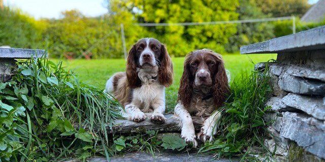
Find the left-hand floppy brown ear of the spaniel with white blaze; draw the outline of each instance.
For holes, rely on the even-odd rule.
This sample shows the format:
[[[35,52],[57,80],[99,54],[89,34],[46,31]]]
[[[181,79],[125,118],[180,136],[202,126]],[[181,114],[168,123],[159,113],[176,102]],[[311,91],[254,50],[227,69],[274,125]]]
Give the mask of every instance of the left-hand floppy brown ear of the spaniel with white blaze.
[[[136,88],[141,86],[141,81],[137,73],[137,60],[136,60],[136,46],[133,45],[132,49],[128,52],[126,60],[126,78],[127,86]]]

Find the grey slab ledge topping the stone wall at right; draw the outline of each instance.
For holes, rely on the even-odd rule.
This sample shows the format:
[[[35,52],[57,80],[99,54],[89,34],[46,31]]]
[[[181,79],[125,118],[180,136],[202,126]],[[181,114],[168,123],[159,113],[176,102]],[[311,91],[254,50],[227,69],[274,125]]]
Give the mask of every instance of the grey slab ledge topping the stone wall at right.
[[[281,36],[269,41],[242,46],[241,54],[283,53],[325,49],[325,26],[296,34]]]

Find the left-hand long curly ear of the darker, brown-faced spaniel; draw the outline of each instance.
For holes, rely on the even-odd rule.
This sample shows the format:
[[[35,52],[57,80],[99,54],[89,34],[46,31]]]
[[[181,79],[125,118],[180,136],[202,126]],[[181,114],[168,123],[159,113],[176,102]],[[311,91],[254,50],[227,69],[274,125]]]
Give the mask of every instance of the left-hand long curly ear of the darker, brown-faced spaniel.
[[[179,83],[179,90],[178,90],[178,101],[180,101],[185,107],[189,106],[192,99],[193,79],[189,70],[189,60],[190,60],[189,55],[186,57],[184,61],[184,71]]]

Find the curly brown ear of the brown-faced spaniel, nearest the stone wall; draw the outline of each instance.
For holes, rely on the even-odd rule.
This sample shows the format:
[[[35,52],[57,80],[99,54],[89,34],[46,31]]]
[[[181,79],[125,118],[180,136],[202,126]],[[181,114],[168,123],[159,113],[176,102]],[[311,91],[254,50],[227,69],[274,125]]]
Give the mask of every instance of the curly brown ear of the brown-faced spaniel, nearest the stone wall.
[[[219,55],[219,54],[217,54]],[[221,56],[218,58],[218,72],[214,76],[213,100],[217,107],[222,106],[226,96],[230,93],[228,77],[224,68],[224,63]]]

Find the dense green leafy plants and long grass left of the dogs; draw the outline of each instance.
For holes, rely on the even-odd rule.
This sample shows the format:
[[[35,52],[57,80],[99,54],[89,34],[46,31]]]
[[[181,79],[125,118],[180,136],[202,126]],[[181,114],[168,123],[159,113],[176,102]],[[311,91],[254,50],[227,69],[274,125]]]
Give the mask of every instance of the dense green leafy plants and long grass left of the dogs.
[[[119,117],[117,105],[61,63],[44,58],[19,62],[11,81],[0,83],[1,161],[108,157],[107,129]]]

